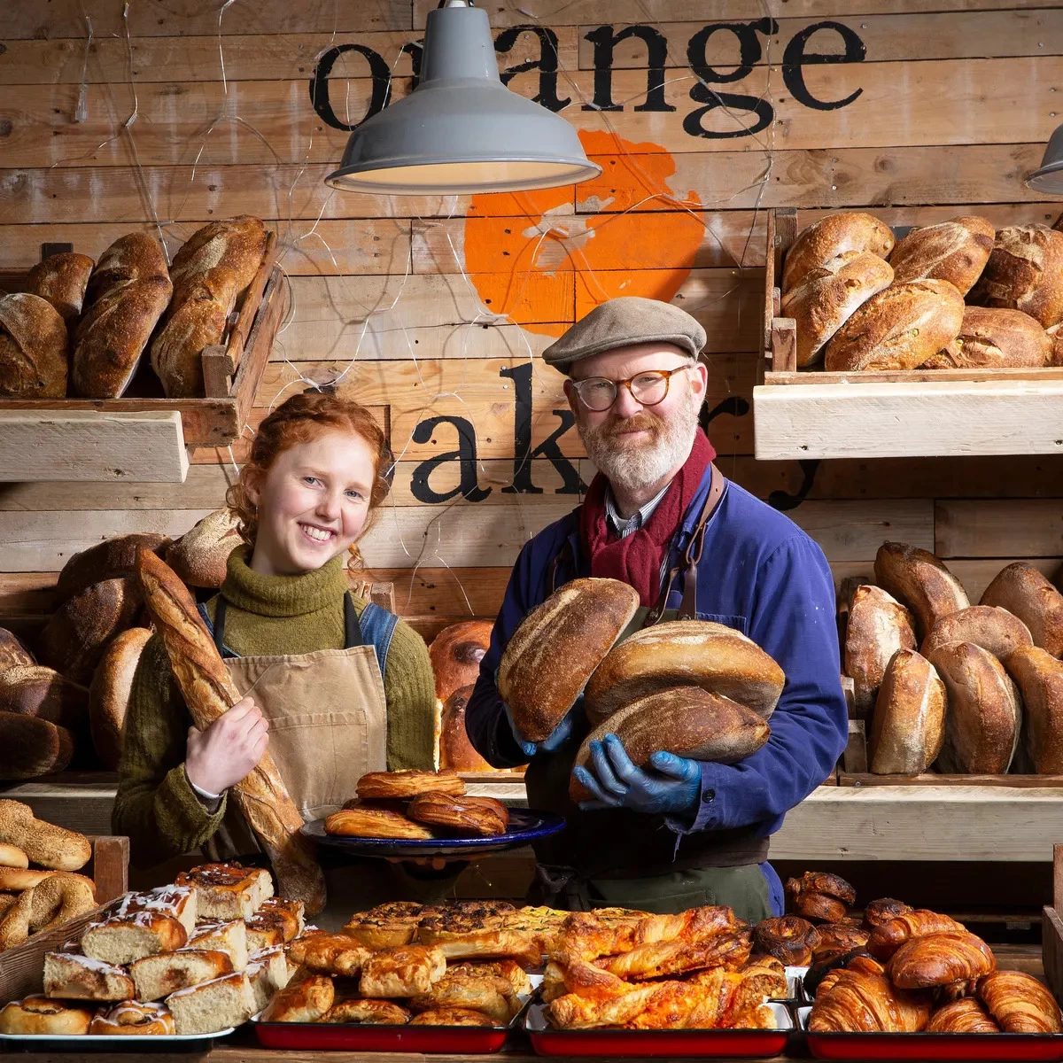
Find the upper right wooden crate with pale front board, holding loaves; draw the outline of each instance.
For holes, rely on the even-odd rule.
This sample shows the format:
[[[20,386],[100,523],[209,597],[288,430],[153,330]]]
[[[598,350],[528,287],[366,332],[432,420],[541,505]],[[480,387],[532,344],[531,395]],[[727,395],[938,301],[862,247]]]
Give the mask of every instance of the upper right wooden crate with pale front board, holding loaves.
[[[798,371],[796,322],[779,316],[777,279],[800,227],[795,208],[769,212],[758,458],[1063,453],[1063,368]],[[893,226],[898,237],[910,227]]]

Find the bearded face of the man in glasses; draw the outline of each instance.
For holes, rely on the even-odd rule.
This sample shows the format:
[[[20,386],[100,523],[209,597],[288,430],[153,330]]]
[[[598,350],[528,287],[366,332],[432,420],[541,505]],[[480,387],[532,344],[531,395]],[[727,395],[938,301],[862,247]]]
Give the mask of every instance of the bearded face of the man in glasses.
[[[692,364],[674,343],[632,343],[572,366],[574,381],[591,376],[624,381],[647,369],[685,365],[690,369],[671,378],[668,394],[654,406],[643,406],[627,388],[620,388],[609,409],[588,409],[566,381],[564,393],[587,455],[613,485],[641,490],[674,474],[686,461],[705,401],[708,370],[703,362]]]

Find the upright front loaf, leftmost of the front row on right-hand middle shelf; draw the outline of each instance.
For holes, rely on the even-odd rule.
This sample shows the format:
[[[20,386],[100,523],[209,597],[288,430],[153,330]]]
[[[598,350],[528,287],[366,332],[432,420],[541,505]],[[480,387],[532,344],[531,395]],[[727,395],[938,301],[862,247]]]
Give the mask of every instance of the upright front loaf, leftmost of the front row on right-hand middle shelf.
[[[941,753],[945,685],[914,649],[890,661],[872,713],[867,764],[876,775],[918,775]]]

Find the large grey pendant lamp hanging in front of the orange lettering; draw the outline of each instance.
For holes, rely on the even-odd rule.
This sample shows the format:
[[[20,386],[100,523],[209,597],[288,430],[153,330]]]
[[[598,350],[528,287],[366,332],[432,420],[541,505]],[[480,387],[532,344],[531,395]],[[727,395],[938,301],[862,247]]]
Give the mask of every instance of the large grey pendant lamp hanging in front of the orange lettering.
[[[563,118],[502,84],[487,12],[443,0],[428,13],[420,84],[351,134],[325,182],[451,196],[554,188],[601,172]]]

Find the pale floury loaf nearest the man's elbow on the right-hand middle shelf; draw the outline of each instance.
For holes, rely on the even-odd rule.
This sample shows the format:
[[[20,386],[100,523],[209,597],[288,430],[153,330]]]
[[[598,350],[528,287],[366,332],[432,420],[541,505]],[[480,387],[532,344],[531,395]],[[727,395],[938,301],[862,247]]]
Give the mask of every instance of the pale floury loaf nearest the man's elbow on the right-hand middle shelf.
[[[898,649],[915,648],[915,620],[892,594],[864,584],[849,605],[843,669],[853,679],[854,718],[866,720],[875,707],[887,665]]]

